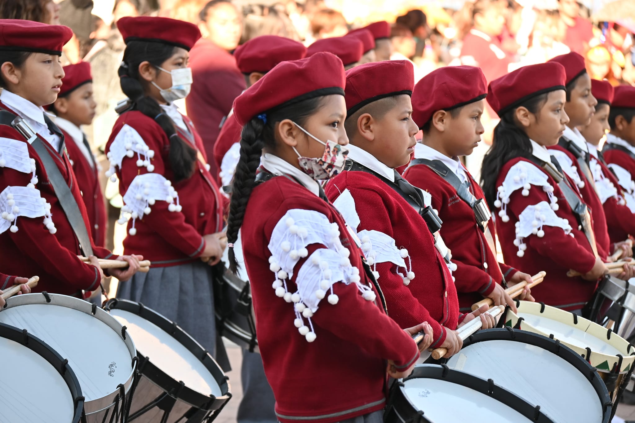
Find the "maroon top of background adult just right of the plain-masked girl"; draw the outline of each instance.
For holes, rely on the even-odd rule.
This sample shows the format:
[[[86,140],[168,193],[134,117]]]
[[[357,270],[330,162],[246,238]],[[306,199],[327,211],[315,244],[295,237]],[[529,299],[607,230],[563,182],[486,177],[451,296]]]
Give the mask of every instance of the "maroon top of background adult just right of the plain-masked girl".
[[[244,76],[234,56],[213,42],[201,38],[190,51],[192,92],[185,98],[187,115],[203,138],[210,159],[211,174],[216,175],[213,148],[223,117],[229,114],[234,98],[245,89]]]

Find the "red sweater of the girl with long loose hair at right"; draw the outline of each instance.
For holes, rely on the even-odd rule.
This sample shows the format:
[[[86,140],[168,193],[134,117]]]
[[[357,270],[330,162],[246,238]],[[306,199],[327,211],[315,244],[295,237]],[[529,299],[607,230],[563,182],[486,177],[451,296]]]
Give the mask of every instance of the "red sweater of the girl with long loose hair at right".
[[[566,272],[573,269],[580,273],[587,273],[593,268],[595,256],[591,245],[584,232],[578,230],[577,218],[567,204],[556,181],[530,160],[518,157],[507,162],[498,174],[496,186],[502,185],[507,172],[519,162],[525,162],[547,176],[548,183],[554,188],[553,195],[558,198],[556,216],[568,221],[572,227],[573,237],[566,235],[562,228],[545,225],[542,228],[544,237],[529,235],[524,238],[523,242],[527,248],[524,256],[519,257],[517,255],[518,247],[514,245],[515,224],[519,221],[519,216],[526,207],[543,201],[549,203],[549,197],[540,186],[532,185],[526,197],[522,195],[521,190],[516,190],[509,197],[509,204],[507,204],[509,221],[505,223],[502,218],[497,217],[496,219],[498,240],[500,240],[505,263],[514,266],[514,268],[521,268],[531,275],[542,270],[547,272],[544,282],[531,289],[531,294],[536,301],[543,301],[550,306],[566,310],[580,309],[591,299],[597,283],[587,282],[580,277],[570,278],[566,276]],[[565,177],[568,178],[568,176]],[[570,183],[575,186],[573,181],[570,180]]]

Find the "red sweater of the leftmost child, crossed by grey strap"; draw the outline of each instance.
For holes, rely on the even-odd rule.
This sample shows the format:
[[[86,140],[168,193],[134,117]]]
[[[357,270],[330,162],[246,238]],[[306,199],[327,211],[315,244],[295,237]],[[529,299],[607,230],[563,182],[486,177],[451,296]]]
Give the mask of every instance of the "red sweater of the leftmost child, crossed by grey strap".
[[[11,112],[0,103],[0,108]],[[13,112],[11,112],[13,113]],[[18,131],[8,126],[0,126],[0,137],[10,138],[26,143]],[[86,207],[79,193],[77,178],[72,171],[65,153],[58,153],[48,141],[41,139],[48,148],[55,164],[62,173],[70,191],[75,198],[79,211],[84,218],[86,228],[90,228]],[[29,157],[36,160],[36,176],[42,198],[51,205],[52,220],[57,228],[51,234],[43,225],[42,217],[18,217],[18,231],[6,230],[0,234],[0,269],[10,275],[39,276],[40,280],[34,292],[48,291],[55,294],[76,295],[79,290],[95,290],[99,286],[98,270],[91,264],[81,262],[77,256],[81,254],[79,241],[73,232],[69,220],[57,200],[53,186],[44,171],[44,166],[31,145],[28,145]],[[7,186],[27,186],[32,174],[23,173],[10,167],[0,167],[0,188]],[[90,230],[88,231],[90,236]],[[93,253],[100,258],[116,258],[105,248],[94,245],[91,237]],[[1,289],[1,288],[0,288]]]

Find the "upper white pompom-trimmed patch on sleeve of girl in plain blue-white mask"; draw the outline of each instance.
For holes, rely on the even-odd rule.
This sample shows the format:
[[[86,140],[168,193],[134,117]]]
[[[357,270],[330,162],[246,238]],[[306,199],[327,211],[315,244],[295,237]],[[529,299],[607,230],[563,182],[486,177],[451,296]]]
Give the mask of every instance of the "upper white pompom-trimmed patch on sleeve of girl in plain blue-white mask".
[[[144,139],[137,130],[130,125],[124,125],[110,143],[110,148],[106,156],[110,162],[110,168],[106,171],[106,176],[112,182],[117,181],[115,176],[116,167],[121,169],[121,163],[125,157],[132,159],[137,154],[137,166],[145,167],[148,172],[154,171],[154,165],[151,163],[154,157],[154,150],[145,143]]]

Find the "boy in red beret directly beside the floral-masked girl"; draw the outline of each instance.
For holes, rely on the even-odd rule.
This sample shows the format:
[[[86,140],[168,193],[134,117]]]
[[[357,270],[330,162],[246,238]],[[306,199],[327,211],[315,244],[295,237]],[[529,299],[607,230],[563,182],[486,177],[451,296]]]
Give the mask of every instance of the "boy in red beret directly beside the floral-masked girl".
[[[410,160],[418,132],[411,120],[413,73],[407,60],[366,63],[347,72],[350,161],[324,192],[361,240],[391,317],[401,327],[428,322],[431,348],[448,348],[450,356],[462,346],[457,323],[486,308],[458,313],[450,272],[455,266],[438,236],[441,222],[424,193],[394,171]],[[481,319],[484,327],[493,324],[487,313]]]

